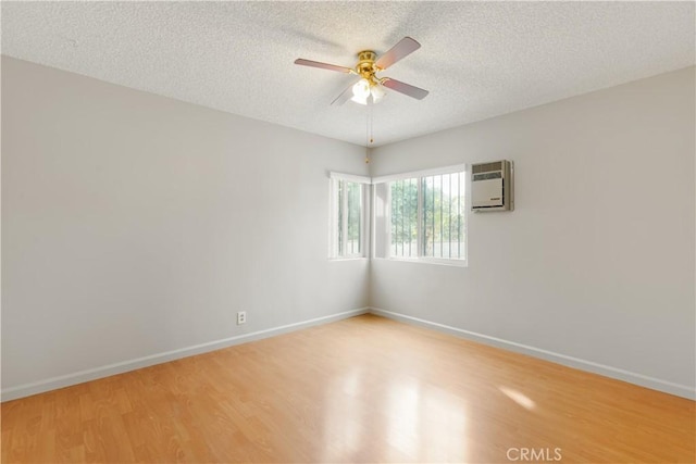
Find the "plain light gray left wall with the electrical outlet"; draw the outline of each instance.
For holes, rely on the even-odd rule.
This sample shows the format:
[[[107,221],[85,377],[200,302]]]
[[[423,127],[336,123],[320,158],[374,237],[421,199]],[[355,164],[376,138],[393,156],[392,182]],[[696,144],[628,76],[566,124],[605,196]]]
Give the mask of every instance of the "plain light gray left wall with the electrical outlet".
[[[369,263],[326,259],[327,172],[363,160],[3,57],[3,393],[366,306]]]

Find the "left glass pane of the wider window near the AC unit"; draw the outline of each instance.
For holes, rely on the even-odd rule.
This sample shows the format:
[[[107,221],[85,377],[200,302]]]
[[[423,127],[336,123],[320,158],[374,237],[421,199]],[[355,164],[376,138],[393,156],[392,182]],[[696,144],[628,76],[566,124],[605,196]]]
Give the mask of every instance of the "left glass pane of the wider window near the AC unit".
[[[418,179],[390,183],[391,243],[390,255],[418,256]]]

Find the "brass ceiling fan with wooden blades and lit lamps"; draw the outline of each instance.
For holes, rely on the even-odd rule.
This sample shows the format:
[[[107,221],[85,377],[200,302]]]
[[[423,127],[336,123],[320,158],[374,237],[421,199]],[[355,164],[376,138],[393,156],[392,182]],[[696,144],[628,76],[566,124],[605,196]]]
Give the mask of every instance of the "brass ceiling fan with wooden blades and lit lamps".
[[[348,100],[352,100],[360,104],[377,103],[386,93],[383,87],[396,90],[418,100],[423,100],[428,93],[427,90],[393,79],[391,77],[377,76],[377,73],[386,70],[402,58],[408,57],[419,48],[421,48],[419,42],[410,37],[403,37],[397,45],[391,47],[389,51],[380,58],[377,58],[377,54],[372,50],[361,51],[358,53],[358,64],[356,67],[320,63],[319,61],[304,60],[301,58],[295,60],[295,64],[360,76],[360,80],[351,84],[331,104],[344,104]]]

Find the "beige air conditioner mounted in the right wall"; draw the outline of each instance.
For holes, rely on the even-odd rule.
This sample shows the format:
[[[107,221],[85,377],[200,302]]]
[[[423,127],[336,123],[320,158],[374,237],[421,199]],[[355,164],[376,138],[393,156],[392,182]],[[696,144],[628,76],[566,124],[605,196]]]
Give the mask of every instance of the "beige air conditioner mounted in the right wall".
[[[514,165],[511,161],[494,161],[471,166],[471,210],[514,210]]]

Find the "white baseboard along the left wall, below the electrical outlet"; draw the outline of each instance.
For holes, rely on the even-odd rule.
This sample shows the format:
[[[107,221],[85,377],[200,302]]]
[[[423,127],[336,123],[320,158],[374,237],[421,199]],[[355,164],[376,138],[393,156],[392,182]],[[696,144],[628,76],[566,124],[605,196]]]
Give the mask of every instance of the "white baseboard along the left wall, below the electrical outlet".
[[[17,398],[29,397],[32,394],[42,393],[45,391],[55,390],[58,388],[70,387],[72,385],[82,384],[98,378],[109,377],[115,374],[123,374],[128,371],[135,371],[148,367],[154,364],[161,364],[182,358],[192,356],[195,354],[207,353],[209,351],[220,350],[222,348],[232,347],[234,344],[246,343],[248,341],[260,340],[302,328],[326,324],[335,321],[346,319],[348,317],[358,316],[370,312],[368,308],[346,311],[343,313],[331,314],[328,316],[316,317],[299,323],[287,324],[265,330],[259,330],[251,334],[244,334],[235,337],[224,338],[222,340],[210,341],[207,343],[196,344],[192,347],[181,348],[178,350],[166,351],[163,353],[152,354],[149,356],[138,358],[135,360],[123,361],[120,363],[108,364],[105,366],[95,367],[91,369],[79,371],[72,374],[61,375],[58,377],[47,378],[30,384],[10,387],[0,392],[1,401],[16,400]]]

